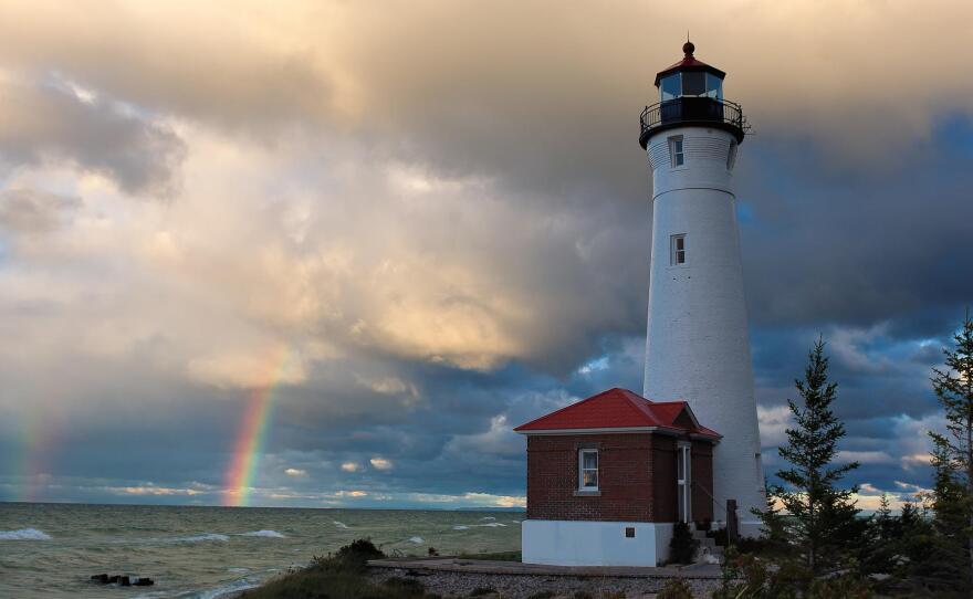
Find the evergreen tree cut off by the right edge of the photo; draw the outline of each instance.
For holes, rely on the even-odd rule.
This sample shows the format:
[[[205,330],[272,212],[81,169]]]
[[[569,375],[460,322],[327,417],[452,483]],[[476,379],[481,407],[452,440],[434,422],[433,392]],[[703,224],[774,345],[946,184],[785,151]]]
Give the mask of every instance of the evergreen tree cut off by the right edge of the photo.
[[[954,349],[943,349],[945,369],[933,368],[932,389],[943,408],[945,433],[930,432],[935,472],[937,532],[963,555],[963,578],[973,587],[973,319],[966,311]]]

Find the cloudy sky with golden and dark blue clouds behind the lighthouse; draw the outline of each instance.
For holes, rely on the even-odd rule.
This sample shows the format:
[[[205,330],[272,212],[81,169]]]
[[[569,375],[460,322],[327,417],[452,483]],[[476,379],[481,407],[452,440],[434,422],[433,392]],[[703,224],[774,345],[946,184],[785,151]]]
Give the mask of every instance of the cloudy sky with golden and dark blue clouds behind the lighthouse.
[[[973,4],[922,6],[0,1],[0,501],[523,506],[513,427],[641,389],[687,30],[768,475],[820,335],[860,505],[921,492],[973,304]]]

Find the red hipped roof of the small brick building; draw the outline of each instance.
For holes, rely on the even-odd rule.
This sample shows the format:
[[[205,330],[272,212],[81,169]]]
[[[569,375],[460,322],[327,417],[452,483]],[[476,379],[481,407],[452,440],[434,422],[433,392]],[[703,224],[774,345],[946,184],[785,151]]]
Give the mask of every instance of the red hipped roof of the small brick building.
[[[516,432],[658,428],[719,439],[701,425],[686,401],[650,401],[627,389],[608,389],[515,428]]]

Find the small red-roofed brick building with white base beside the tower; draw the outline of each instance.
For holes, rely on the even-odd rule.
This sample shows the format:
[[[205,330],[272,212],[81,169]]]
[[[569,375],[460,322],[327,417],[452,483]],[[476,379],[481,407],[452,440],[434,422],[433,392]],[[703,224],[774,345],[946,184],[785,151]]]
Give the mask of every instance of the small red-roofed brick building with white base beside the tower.
[[[713,518],[720,434],[684,401],[609,389],[514,430],[527,438],[525,563],[656,566],[676,522]]]

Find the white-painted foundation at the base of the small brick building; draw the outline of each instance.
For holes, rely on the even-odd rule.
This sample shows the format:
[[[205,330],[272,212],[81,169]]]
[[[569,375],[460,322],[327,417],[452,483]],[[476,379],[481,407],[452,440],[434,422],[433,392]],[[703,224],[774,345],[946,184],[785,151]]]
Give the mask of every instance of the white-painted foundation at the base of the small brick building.
[[[669,558],[672,523],[526,519],[524,564],[550,566],[661,566]],[[625,529],[635,528],[635,537]]]

